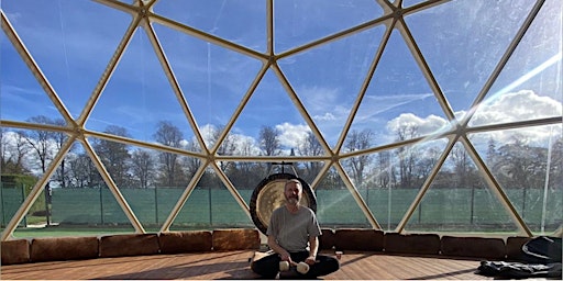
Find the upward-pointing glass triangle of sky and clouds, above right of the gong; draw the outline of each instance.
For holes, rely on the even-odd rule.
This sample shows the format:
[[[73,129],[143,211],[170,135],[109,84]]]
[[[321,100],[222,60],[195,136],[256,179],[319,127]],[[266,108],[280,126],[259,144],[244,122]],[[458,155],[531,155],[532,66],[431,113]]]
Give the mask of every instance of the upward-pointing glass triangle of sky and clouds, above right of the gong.
[[[378,146],[431,137],[449,127],[405,41],[398,32],[393,32],[345,143],[354,132],[372,132],[369,145]]]

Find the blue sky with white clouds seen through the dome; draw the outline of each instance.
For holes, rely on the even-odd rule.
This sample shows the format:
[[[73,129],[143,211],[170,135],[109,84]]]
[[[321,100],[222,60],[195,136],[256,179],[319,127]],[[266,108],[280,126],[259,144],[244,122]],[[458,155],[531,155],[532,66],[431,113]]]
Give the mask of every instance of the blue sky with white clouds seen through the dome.
[[[125,1],[129,2],[129,1]],[[408,7],[423,1],[404,1]],[[409,14],[408,31],[455,116],[472,104],[489,79],[536,1],[451,1]],[[96,1],[2,1],[8,20],[73,117],[82,114],[132,16]],[[538,19],[492,85],[472,126],[562,115],[562,8],[547,0]],[[242,49],[267,52],[266,1],[162,0],[153,10],[191,29],[222,37]],[[303,44],[378,19],[373,0],[274,1],[274,52],[285,55]],[[369,78],[386,24],[277,60],[285,79],[330,146],[349,120],[362,85]],[[178,86],[205,138],[224,126],[260,76],[262,61],[158,23],[152,27],[170,61]],[[0,119],[60,117],[36,79],[0,35]],[[394,142],[394,130],[416,124],[431,135],[450,122],[443,104],[413,57],[406,37],[394,30],[357,108],[351,130],[375,132],[373,145]],[[86,128],[109,125],[153,142],[158,121],[170,121],[185,138],[194,136],[187,112],[144,29],[136,29],[97,101]],[[232,134],[255,140],[263,126],[280,132],[286,148],[311,128],[295,106],[280,77],[269,68],[234,122]],[[508,142],[508,131],[493,132]],[[512,132],[512,131],[510,131]],[[551,133],[550,133],[551,132]],[[530,142],[545,144],[549,126],[520,130]],[[561,125],[559,133],[561,136]],[[487,136],[489,136],[487,135]]]

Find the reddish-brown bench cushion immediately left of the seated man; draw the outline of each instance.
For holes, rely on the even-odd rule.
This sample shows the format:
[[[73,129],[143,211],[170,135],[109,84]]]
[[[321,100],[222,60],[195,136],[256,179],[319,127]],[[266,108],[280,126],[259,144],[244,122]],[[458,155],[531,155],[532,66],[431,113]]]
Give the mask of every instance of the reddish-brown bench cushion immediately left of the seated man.
[[[212,240],[213,250],[260,249],[257,229],[216,229]]]

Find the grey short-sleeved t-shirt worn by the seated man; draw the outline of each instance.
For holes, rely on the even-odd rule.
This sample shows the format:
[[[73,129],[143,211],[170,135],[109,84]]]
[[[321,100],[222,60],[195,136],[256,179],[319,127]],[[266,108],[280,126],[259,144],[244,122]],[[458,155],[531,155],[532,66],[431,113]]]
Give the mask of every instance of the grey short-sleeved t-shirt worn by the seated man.
[[[296,214],[280,206],[272,213],[266,232],[279,246],[290,252],[308,250],[309,237],[321,235],[321,228],[312,210],[300,206]]]

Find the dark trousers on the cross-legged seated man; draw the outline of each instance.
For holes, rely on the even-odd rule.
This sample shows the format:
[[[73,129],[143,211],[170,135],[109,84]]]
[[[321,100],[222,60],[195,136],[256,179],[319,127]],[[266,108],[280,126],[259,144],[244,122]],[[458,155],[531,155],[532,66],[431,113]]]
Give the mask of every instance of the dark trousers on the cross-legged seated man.
[[[309,257],[308,251],[290,252],[289,255],[291,256],[291,260],[295,262],[305,261],[307,257]],[[266,256],[260,260],[255,260],[251,265],[251,268],[252,271],[264,278],[274,279],[279,272],[279,261],[282,261],[279,255],[273,252],[272,255]],[[317,255],[317,262],[312,266],[309,266],[309,272],[306,274],[298,274],[302,276],[302,279],[313,279],[332,273],[339,269],[340,262],[338,259],[330,256]]]

